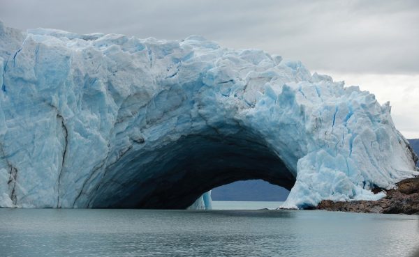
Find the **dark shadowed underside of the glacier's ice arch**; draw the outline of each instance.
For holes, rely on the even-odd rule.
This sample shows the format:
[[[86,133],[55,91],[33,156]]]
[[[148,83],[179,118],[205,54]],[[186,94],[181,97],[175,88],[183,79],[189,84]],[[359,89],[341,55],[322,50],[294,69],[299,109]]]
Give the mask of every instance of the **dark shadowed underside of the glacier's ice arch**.
[[[190,134],[124,158],[91,195],[89,207],[184,209],[238,180],[261,179],[288,190],[295,184],[278,155],[247,130]]]

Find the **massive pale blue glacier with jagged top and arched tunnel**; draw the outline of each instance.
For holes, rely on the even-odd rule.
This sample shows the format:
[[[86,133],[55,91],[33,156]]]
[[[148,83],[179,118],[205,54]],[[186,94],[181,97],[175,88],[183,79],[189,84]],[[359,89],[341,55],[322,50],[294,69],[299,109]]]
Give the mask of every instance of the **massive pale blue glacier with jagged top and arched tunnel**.
[[[309,208],[418,175],[389,103],[263,50],[0,22],[0,68],[1,208],[210,208],[249,179]]]

